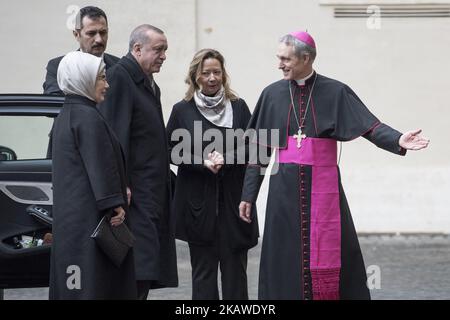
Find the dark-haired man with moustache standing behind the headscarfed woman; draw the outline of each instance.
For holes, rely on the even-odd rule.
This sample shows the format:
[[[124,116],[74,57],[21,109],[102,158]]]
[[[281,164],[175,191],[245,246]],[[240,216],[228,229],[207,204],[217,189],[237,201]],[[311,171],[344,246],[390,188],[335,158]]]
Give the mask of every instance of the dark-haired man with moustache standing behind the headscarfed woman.
[[[73,35],[80,44],[79,50],[97,57],[103,56],[106,69],[119,61],[119,58],[105,53],[108,42],[108,18],[102,9],[92,6],[81,8],[75,19]],[[56,72],[62,58],[63,56],[60,56],[48,62],[43,84],[44,94],[64,95],[56,81]]]

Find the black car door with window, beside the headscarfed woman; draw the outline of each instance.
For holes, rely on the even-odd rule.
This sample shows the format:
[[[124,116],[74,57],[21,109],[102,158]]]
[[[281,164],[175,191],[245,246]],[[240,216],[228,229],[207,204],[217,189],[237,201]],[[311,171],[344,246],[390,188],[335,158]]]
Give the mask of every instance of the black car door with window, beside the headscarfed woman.
[[[0,95],[0,288],[48,286],[49,133],[62,97]]]

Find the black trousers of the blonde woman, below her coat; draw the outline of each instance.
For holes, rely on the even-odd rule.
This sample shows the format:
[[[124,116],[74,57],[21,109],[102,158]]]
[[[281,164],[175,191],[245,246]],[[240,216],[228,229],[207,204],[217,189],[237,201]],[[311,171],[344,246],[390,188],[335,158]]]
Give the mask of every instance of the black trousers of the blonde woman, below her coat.
[[[248,300],[247,252],[233,252],[224,243],[212,246],[189,244],[192,266],[192,300],[218,300],[218,269],[222,299]]]

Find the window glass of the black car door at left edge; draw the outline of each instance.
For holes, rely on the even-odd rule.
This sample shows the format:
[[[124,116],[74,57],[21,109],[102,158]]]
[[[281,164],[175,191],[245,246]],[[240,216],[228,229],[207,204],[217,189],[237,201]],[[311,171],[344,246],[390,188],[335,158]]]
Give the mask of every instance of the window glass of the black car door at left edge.
[[[0,115],[0,161],[46,159],[53,118]]]

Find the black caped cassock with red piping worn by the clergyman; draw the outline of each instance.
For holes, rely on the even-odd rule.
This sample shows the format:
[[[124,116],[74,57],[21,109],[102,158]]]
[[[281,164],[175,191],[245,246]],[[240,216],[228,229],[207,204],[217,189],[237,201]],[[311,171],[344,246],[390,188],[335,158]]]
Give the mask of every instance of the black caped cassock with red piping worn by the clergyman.
[[[331,155],[316,153],[319,161],[334,158],[336,171],[337,208],[330,210],[338,212],[337,220],[340,221],[337,230],[340,234],[335,234],[333,238],[337,239],[338,248],[335,247],[328,253],[324,253],[324,248],[319,252],[321,248],[318,247],[322,243],[333,246],[333,243],[329,239],[321,239],[321,231],[317,231],[316,223],[320,223],[320,214],[312,217],[313,203],[314,206],[324,204],[323,201],[321,203],[314,200],[317,197],[312,197],[312,187],[321,182],[313,179],[317,177],[313,174],[315,166],[309,165],[308,161],[301,165],[281,161],[286,155],[286,152],[283,155],[282,152],[296,150],[296,146],[292,148],[292,144],[288,147],[288,141],[296,144],[292,137],[297,134],[299,125],[305,139],[296,151],[297,155],[306,150],[301,148],[311,145],[310,142],[325,142],[332,146],[336,145],[336,141],[349,141],[360,136],[396,154],[404,155],[406,150],[398,145],[401,133],[380,123],[348,86],[322,75],[317,75],[315,84],[314,79],[316,73],[302,86],[287,80],[269,85],[262,92],[249,123],[249,129],[256,129],[252,141],[260,146],[275,147],[280,152],[277,158],[278,172],[270,177],[258,295],[260,299],[370,299],[361,249],[340,182],[339,168],[335,165],[336,149],[331,148],[334,150]],[[314,89],[309,99],[313,84]],[[307,108],[308,100],[310,103]],[[291,101],[294,102],[296,114]],[[279,141],[270,134],[265,139],[259,129],[279,130]],[[270,153],[270,149],[267,153]],[[255,157],[253,161],[256,162]],[[247,168],[242,200],[253,203],[256,201],[262,179],[258,166]],[[325,211],[326,214],[329,213]],[[312,219],[316,219],[314,223],[311,222]],[[333,223],[336,226],[336,222]],[[321,230],[328,230],[329,227],[325,225]],[[317,251],[313,251],[313,246]],[[324,281],[315,282],[320,277],[317,274],[323,271],[317,270],[320,269],[320,263],[323,263],[318,261],[320,254],[324,258],[322,260],[337,256],[337,268],[325,270],[325,273],[330,273],[329,277],[326,278],[325,275]],[[311,260],[313,255],[314,261]],[[314,270],[313,264],[316,268]],[[319,267],[316,267],[317,264]],[[331,275],[333,272],[334,279]],[[335,292],[330,289],[333,285]],[[327,290],[331,294],[327,294]]]

